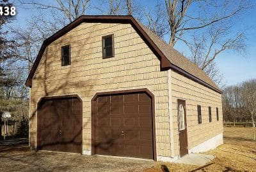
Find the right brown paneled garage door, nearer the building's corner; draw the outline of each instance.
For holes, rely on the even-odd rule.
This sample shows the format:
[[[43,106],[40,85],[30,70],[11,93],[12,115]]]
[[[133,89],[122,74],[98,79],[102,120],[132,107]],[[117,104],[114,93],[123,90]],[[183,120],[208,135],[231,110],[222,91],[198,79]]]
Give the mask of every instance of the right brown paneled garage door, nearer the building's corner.
[[[152,99],[147,93],[99,96],[93,110],[95,154],[154,158]]]

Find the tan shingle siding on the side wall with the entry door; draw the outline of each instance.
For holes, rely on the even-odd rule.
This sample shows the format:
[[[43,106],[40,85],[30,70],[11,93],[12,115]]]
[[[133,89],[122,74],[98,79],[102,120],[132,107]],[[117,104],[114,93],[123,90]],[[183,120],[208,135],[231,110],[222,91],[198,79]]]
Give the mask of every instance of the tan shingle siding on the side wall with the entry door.
[[[223,133],[221,94],[208,89],[199,83],[179,75],[171,74],[172,85],[172,115],[175,155],[179,155],[179,134],[177,123],[177,99],[186,100],[188,147],[189,149]],[[202,106],[202,124],[198,124],[197,105]],[[212,107],[212,122],[209,122],[208,106]],[[216,108],[219,109],[220,120],[216,119]]]

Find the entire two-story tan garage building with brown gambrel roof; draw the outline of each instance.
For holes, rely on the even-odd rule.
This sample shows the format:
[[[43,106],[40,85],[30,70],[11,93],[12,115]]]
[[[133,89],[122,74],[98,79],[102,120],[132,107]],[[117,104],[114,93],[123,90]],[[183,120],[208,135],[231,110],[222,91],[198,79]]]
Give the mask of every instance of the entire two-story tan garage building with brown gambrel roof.
[[[37,150],[172,161],[223,143],[221,90],[131,16],[45,39],[26,85]]]

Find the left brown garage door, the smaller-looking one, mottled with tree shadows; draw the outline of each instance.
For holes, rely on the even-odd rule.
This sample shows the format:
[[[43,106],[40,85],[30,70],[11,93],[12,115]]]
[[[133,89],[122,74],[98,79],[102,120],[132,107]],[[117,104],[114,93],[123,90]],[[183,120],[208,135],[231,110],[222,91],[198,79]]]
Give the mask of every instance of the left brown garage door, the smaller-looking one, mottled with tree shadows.
[[[38,149],[82,152],[82,103],[76,97],[38,104]]]

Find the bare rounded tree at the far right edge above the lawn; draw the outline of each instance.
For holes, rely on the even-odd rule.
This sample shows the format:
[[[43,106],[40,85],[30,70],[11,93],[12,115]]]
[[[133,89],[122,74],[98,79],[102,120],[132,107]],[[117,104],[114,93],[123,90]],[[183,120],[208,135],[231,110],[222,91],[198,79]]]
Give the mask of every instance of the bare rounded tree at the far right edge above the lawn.
[[[255,127],[256,117],[256,79],[242,83],[242,95],[246,110],[250,112],[252,125]]]

